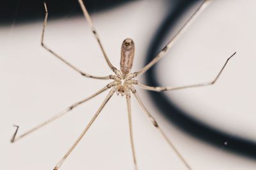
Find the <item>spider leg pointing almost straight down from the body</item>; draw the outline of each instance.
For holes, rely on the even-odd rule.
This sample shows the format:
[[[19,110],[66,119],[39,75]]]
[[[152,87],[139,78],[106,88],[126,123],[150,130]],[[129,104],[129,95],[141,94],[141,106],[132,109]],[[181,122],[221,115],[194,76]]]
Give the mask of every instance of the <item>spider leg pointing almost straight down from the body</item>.
[[[132,133],[132,114],[131,114],[131,94],[126,94],[126,102],[127,102],[127,109],[128,109],[128,118],[129,118],[129,130],[130,130],[130,139],[131,139],[131,146],[132,146],[132,156],[134,162],[134,169],[138,170],[138,165],[136,161],[136,154],[133,142],[133,133]]]

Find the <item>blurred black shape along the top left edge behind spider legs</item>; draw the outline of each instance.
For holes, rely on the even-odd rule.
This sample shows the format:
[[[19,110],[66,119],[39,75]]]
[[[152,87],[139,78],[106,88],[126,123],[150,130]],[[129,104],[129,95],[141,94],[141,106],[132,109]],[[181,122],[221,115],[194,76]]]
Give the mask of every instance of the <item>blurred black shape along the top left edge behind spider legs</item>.
[[[85,0],[84,0],[85,1]],[[134,0],[86,0],[86,8],[90,13],[113,8]],[[44,19],[44,2],[47,3],[51,18],[67,17],[81,14],[77,0],[10,0],[1,1],[0,24],[27,22]]]

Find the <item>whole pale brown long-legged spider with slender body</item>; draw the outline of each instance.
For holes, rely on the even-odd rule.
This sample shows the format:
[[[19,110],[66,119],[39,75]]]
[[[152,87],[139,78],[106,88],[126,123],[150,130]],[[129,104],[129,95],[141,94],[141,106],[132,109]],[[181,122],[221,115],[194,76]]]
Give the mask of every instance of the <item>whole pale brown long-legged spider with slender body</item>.
[[[58,164],[56,164],[56,166],[54,167],[54,170],[58,170],[61,167],[61,165],[66,160],[68,155],[70,155],[72,150],[74,150],[74,148],[77,146],[79,141],[81,141],[83,136],[86,134],[88,129],[91,127],[93,122],[97,119],[97,116],[99,116],[100,111],[102,111],[103,107],[108,103],[109,99],[114,95],[114,93],[116,93],[117,95],[121,95],[122,97],[125,96],[126,101],[127,101],[127,112],[128,112],[128,118],[129,118],[129,132],[130,132],[131,149],[132,149],[132,156],[133,156],[133,162],[134,162],[134,169],[135,170],[138,170],[138,164],[137,164],[137,160],[136,160],[136,154],[135,154],[135,148],[134,148],[134,142],[133,142],[133,133],[132,133],[131,94],[134,95],[137,102],[140,104],[141,109],[143,110],[143,112],[145,112],[145,114],[147,114],[149,120],[152,122],[154,127],[156,127],[157,130],[159,130],[160,134],[163,135],[163,138],[166,140],[166,142],[168,144],[170,144],[172,149],[175,151],[175,153],[178,155],[180,160],[183,162],[184,166],[186,166],[187,169],[191,169],[188,162],[186,162],[185,158],[182,157],[182,155],[179,153],[177,148],[175,148],[175,146],[170,141],[170,139],[168,139],[167,135],[164,133],[162,128],[159,126],[159,124],[157,123],[155,118],[150,114],[150,112],[148,112],[148,110],[146,109],[145,105],[141,101],[141,99],[140,99],[136,89],[134,88],[134,86],[138,86],[139,88],[147,89],[147,90],[150,90],[150,91],[171,91],[171,90],[175,90],[175,89],[185,89],[185,88],[195,88],[195,87],[200,87],[200,86],[209,86],[209,85],[214,84],[218,80],[218,78],[220,77],[221,73],[223,72],[225,66],[227,65],[229,59],[232,58],[236,54],[236,52],[234,54],[232,54],[232,56],[230,56],[227,59],[225,64],[222,66],[220,72],[218,72],[215,79],[213,79],[213,81],[211,81],[211,82],[191,84],[191,85],[188,85],[188,86],[178,86],[178,87],[152,87],[152,86],[147,86],[145,84],[142,84],[141,82],[135,80],[134,78],[138,77],[138,75],[142,75],[143,73],[147,72],[147,70],[151,66],[156,64],[157,61],[159,61],[159,59],[161,59],[164,56],[164,54],[166,54],[166,52],[168,52],[168,50],[170,50],[170,48],[173,46],[173,44],[176,42],[176,40],[185,31],[185,29],[189,26],[189,24],[191,24],[191,22],[196,18],[196,16],[205,8],[205,6],[209,3],[209,1],[210,0],[205,0],[202,4],[200,4],[200,6],[197,8],[196,12],[193,13],[193,15],[184,24],[184,26],[182,26],[181,29],[176,33],[176,35],[173,36],[173,38],[170,40],[170,42],[168,42],[167,45],[157,54],[156,58],[154,58],[152,61],[150,61],[150,63],[148,63],[143,68],[141,68],[141,70],[139,70],[138,72],[131,72],[132,63],[133,63],[133,59],[134,59],[134,42],[132,41],[132,39],[131,38],[126,38],[124,40],[124,42],[122,43],[120,70],[118,70],[115,66],[113,66],[111,64],[111,61],[109,61],[108,55],[106,54],[106,51],[104,50],[104,47],[103,47],[102,43],[100,42],[99,35],[98,35],[95,27],[93,26],[92,19],[90,18],[90,15],[89,15],[88,11],[86,10],[86,7],[83,3],[83,0],[78,0],[79,4],[81,6],[81,9],[83,10],[84,17],[86,18],[86,20],[90,24],[90,27],[92,29],[92,33],[95,36],[95,38],[96,38],[96,40],[99,44],[100,49],[102,50],[102,53],[104,55],[104,58],[105,58],[105,60],[108,64],[109,68],[113,71],[113,73],[115,73],[113,75],[108,75],[108,76],[103,76],[103,77],[99,77],[99,76],[91,75],[89,73],[82,72],[81,70],[79,70],[79,68],[76,68],[76,66],[68,63],[68,61],[66,61],[64,58],[59,56],[56,52],[54,52],[49,47],[47,47],[47,45],[45,45],[45,43],[44,43],[44,33],[45,33],[45,27],[46,27],[46,24],[47,24],[48,10],[47,10],[46,4],[44,3],[45,19],[44,19],[44,25],[43,25],[43,29],[42,29],[42,40],[41,40],[42,47],[44,47],[44,49],[51,52],[51,54],[53,54],[56,58],[63,61],[63,63],[65,63],[67,66],[69,66],[70,68],[72,68],[76,72],[80,73],[84,77],[89,77],[89,78],[92,78],[92,79],[112,80],[112,82],[110,82],[109,84],[104,86],[104,88],[100,89],[99,91],[97,91],[96,93],[91,95],[90,97],[85,98],[84,100],[81,100],[79,102],[76,102],[76,103],[70,105],[64,111],[59,112],[58,114],[54,115],[49,120],[45,121],[44,123],[41,123],[41,124],[37,125],[36,127],[32,128],[31,130],[28,130],[28,132],[25,132],[24,134],[21,134],[21,135],[17,136],[19,126],[14,125],[16,127],[16,130],[15,130],[15,133],[13,134],[11,142],[14,143],[15,141],[18,141],[19,139],[22,139],[22,137],[25,137],[26,135],[31,134],[31,132],[34,132],[35,130],[38,130],[38,128],[44,127],[48,123],[51,123],[52,121],[57,120],[61,116],[67,114],[67,112],[72,111],[72,109],[76,108],[77,106],[83,104],[84,102],[90,100],[91,98],[96,97],[97,95],[99,95],[103,91],[106,91],[107,89],[109,89],[108,96],[105,98],[104,102],[100,105],[99,109],[94,114],[92,120],[90,120],[88,125],[86,125],[82,134],[79,135],[76,142],[67,151],[67,153],[64,155],[64,157],[61,158],[60,162],[58,162]]]

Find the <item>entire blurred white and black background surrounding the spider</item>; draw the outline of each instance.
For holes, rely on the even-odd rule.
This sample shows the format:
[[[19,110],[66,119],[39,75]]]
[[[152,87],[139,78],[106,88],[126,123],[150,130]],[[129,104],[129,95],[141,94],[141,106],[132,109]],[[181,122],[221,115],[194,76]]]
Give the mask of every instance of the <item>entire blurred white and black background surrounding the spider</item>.
[[[102,52],[77,1],[46,1],[45,43],[84,72],[108,75]],[[132,71],[164,47],[202,1],[85,1],[111,62],[122,41],[136,45]],[[248,0],[212,1],[168,54],[139,81],[214,86],[152,93],[138,89],[147,109],[193,169],[256,169],[255,8]],[[40,47],[42,1],[4,1],[0,7],[0,169],[53,169],[81,134],[107,93],[47,127],[19,134],[82,100],[109,81],[86,79]],[[186,169],[132,98],[134,143],[140,169]],[[133,169],[125,99],[111,98],[61,169]]]

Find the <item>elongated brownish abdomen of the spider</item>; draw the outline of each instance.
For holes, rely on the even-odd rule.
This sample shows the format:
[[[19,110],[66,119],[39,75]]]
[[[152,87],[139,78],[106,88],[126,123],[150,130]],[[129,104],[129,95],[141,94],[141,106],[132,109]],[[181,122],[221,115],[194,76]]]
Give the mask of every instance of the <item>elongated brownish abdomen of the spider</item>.
[[[124,75],[131,72],[133,58],[134,58],[134,42],[131,38],[126,38],[121,47],[121,61],[120,68]]]

